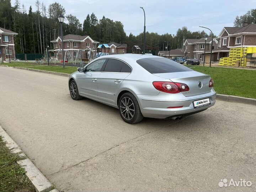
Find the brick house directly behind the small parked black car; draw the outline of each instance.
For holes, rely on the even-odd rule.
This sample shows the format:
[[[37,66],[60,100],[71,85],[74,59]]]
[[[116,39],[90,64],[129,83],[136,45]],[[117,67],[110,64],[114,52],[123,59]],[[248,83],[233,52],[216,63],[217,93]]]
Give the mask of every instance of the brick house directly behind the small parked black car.
[[[183,44],[183,49],[185,50],[184,56],[203,61],[204,46],[205,46],[204,38],[186,39],[186,41]],[[212,46],[212,37],[208,37],[206,40],[206,53],[210,51],[211,46]],[[218,41],[216,39],[213,39],[212,50],[217,49],[217,46],[218,46]]]

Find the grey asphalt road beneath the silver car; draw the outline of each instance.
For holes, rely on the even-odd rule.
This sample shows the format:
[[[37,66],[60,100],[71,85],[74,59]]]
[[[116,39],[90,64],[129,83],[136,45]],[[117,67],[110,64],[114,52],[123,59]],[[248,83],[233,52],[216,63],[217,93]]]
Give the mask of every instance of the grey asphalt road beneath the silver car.
[[[256,106],[124,123],[67,77],[0,67],[0,124],[63,191],[256,191]],[[251,181],[219,187],[221,179]],[[224,184],[224,183],[223,183]]]

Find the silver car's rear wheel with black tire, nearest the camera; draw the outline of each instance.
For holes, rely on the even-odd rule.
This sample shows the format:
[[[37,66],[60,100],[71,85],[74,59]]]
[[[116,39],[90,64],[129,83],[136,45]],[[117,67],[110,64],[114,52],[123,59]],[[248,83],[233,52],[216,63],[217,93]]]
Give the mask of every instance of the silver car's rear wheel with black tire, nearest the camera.
[[[122,119],[129,124],[142,121],[143,115],[140,111],[139,103],[130,92],[124,93],[118,103],[119,113]]]

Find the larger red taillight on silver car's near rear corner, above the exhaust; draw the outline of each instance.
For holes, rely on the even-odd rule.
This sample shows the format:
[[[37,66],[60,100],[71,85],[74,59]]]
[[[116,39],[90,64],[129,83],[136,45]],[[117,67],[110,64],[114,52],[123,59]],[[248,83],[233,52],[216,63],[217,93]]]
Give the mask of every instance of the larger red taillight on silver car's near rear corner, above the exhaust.
[[[178,82],[154,81],[153,85],[157,90],[171,94],[190,90],[186,84]]]

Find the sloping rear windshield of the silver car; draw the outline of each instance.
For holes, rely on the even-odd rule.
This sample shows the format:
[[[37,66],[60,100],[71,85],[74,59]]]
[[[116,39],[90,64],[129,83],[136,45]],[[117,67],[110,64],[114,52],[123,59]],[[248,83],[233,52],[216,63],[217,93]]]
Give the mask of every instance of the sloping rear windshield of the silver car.
[[[137,63],[149,73],[174,73],[193,71],[182,64],[166,58],[145,58],[137,60]]]

